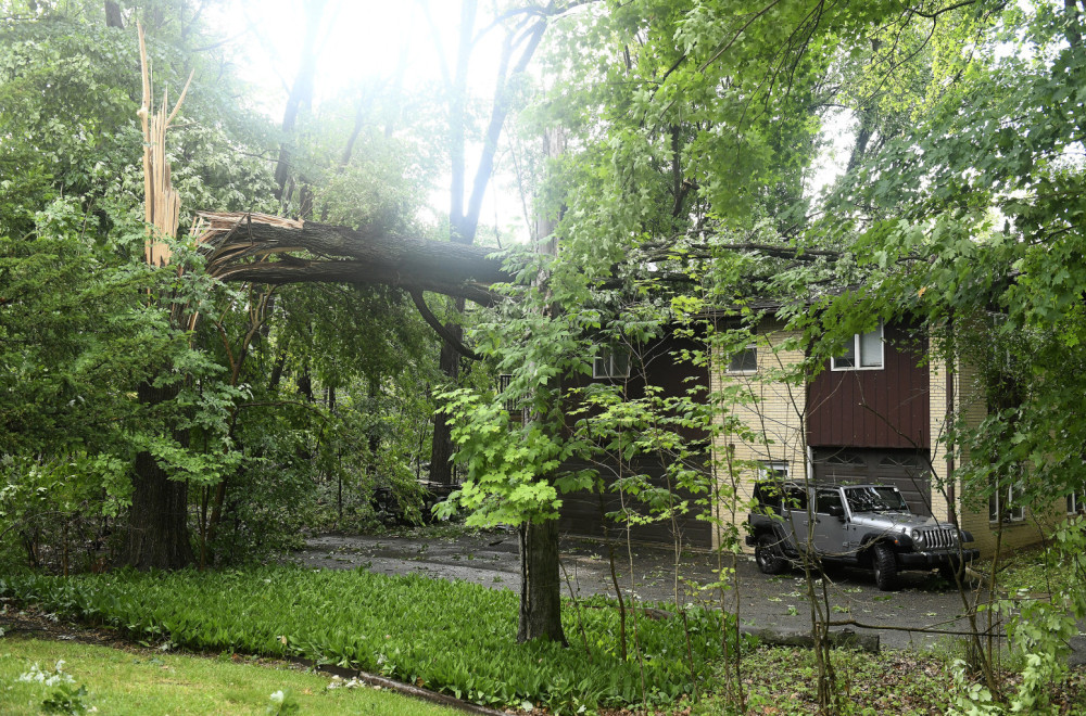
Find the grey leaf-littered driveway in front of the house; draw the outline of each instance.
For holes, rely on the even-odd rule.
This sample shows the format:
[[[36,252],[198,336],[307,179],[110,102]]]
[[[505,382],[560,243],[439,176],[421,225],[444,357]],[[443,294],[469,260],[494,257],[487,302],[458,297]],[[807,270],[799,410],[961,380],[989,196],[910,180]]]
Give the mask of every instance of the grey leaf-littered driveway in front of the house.
[[[308,540],[294,559],[313,567],[350,570],[365,566],[379,574],[422,574],[442,579],[463,579],[493,589],[519,589],[517,536],[514,533],[470,534],[457,537],[356,537],[323,535]],[[561,542],[564,588],[579,598],[614,596],[607,548],[590,540],[564,538]],[[717,581],[717,557],[687,551],[680,560],[678,601],[720,603],[717,590],[699,590],[699,585]],[[618,580],[623,593],[646,602],[675,601],[673,550],[626,545],[618,548]],[[742,557],[736,578],[729,579],[727,608],[735,609],[736,589],[740,619],[759,628],[809,630],[810,609],[799,571],[770,577],[761,574],[753,558]],[[922,648],[949,641],[951,635],[921,634],[929,628],[962,631],[968,625],[960,616],[962,598],[935,573],[909,572],[901,575],[897,591],[883,592],[870,572],[841,568],[825,581],[830,616],[856,622],[873,629],[850,626],[858,632],[880,636],[883,648]]]

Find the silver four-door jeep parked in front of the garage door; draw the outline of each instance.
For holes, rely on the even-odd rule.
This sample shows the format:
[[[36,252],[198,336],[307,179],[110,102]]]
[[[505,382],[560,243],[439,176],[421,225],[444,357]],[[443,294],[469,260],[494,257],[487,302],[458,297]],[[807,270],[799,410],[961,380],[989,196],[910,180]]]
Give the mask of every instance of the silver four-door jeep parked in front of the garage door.
[[[889,590],[904,570],[938,568],[952,580],[980,554],[963,547],[973,541],[970,533],[913,514],[888,485],[767,481],[755,484],[755,500],[746,544],[765,574],[808,557],[870,568],[879,588]]]

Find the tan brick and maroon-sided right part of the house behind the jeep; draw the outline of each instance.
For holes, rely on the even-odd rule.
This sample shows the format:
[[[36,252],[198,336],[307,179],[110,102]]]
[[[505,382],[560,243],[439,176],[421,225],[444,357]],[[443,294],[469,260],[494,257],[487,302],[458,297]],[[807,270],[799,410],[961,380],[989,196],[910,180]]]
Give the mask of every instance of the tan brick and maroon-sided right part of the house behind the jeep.
[[[745,386],[755,402],[733,408],[733,414],[761,432],[759,440],[727,434],[715,440],[718,481],[734,483],[743,499],[752,496],[756,480],[771,473],[815,482],[889,484],[918,514],[948,523],[957,515],[982,555],[994,552],[1000,530],[1003,549],[1041,540],[1033,517],[1044,522],[1052,514],[1030,514],[1014,504],[1013,489],[978,503],[955,480],[969,451],[948,442],[947,427],[957,417],[980,424],[987,398],[969,366],[926,360],[935,353],[929,350],[931,338],[923,327],[879,324],[856,334],[805,385],[766,380],[766,371],[804,360],[801,349],[782,348],[797,337],[770,318],[758,327],[749,348],[754,355],[716,361],[714,389]],[[744,466],[728,474],[719,466],[724,456]],[[1076,509],[1076,499],[1068,498],[1068,511]],[[1053,513],[1062,511],[1062,504],[1053,508]]]

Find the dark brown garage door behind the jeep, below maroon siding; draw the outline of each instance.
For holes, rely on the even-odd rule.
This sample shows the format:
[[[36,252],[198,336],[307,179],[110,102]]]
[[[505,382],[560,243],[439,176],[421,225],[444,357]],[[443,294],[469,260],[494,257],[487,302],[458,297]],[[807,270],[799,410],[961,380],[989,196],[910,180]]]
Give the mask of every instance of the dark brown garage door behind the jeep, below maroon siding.
[[[931,515],[927,450],[818,447],[812,451],[816,482],[893,485],[913,512]]]

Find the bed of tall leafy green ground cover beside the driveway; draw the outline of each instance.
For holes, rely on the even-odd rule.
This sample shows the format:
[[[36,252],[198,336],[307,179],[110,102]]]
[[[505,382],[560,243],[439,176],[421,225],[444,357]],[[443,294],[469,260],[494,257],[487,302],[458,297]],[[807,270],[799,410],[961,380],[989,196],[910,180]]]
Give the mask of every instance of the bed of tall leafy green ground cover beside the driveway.
[[[617,610],[565,610],[569,649],[517,644],[510,591],[362,570],[27,574],[0,580],[0,597],[147,644],[299,656],[476,703],[559,713],[672,703],[722,654],[720,616],[711,611],[640,618],[640,648],[631,644],[622,659]]]

